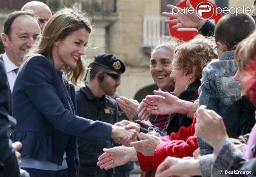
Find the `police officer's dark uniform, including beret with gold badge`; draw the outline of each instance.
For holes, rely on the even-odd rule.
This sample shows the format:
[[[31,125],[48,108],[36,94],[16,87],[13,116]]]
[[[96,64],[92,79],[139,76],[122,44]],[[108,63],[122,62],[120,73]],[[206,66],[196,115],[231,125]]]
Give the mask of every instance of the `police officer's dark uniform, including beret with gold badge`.
[[[92,63],[111,69],[119,74],[125,71],[123,62],[112,54],[99,54]],[[118,106],[108,95],[96,97],[88,86],[76,89],[78,116],[91,120],[100,120],[114,124],[118,119]],[[82,125],[81,125],[82,126]],[[102,132],[104,133],[104,132]],[[114,140],[101,140],[78,137],[78,154],[80,160],[80,177],[112,177],[113,170],[100,169],[97,166],[98,157],[103,154],[103,148],[113,147]]]

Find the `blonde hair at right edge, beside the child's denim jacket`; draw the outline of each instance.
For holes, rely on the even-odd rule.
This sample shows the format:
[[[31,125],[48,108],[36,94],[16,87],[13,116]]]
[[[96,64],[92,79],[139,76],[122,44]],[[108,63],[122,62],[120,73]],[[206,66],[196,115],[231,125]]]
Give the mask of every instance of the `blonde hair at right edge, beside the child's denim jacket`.
[[[256,31],[237,45],[235,59],[239,69],[245,69],[254,56],[256,56]]]

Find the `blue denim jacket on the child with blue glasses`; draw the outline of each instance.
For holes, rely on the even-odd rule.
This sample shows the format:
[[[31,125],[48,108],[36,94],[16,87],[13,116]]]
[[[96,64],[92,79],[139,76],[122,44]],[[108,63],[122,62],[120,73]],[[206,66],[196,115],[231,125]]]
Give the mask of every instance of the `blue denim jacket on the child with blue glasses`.
[[[206,105],[222,116],[227,108],[241,98],[239,82],[234,80],[238,69],[234,59],[235,51],[224,52],[220,60],[211,62],[203,70],[204,83],[201,86],[199,105]],[[213,149],[201,138],[197,138],[200,154],[210,154]]]

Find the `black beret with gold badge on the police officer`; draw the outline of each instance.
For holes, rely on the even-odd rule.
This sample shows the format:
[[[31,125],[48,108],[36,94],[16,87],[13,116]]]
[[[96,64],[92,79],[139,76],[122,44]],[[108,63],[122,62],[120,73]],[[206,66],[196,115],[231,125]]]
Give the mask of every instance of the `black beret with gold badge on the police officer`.
[[[116,71],[120,74],[124,73],[126,70],[124,63],[115,55],[109,53],[101,53],[99,55],[95,55],[94,60],[91,63],[97,64],[107,69],[111,69],[112,71]]]

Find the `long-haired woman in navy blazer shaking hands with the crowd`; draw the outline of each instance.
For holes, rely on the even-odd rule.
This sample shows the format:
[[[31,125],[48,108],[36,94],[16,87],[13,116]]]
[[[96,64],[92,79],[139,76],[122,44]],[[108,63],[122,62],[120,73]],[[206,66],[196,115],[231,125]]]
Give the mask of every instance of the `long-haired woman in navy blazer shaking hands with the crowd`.
[[[78,176],[76,136],[109,140],[134,135],[75,115],[65,77],[71,85],[83,85],[82,56],[91,31],[81,11],[61,9],[21,63],[12,93],[17,126],[10,138],[23,144],[21,168],[31,177]]]

